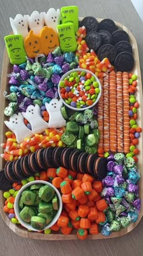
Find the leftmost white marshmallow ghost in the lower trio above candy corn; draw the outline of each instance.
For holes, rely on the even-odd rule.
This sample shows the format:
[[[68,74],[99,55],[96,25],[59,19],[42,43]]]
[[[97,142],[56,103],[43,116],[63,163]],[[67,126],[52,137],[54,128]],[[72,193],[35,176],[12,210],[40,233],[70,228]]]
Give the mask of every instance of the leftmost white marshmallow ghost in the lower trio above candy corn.
[[[24,118],[21,113],[18,113],[18,115],[13,114],[12,116],[10,116],[10,121],[4,121],[4,123],[8,127],[8,129],[12,130],[12,132],[15,133],[18,143],[24,141],[24,138],[31,138],[33,135],[32,130],[28,129],[27,126],[25,126]]]

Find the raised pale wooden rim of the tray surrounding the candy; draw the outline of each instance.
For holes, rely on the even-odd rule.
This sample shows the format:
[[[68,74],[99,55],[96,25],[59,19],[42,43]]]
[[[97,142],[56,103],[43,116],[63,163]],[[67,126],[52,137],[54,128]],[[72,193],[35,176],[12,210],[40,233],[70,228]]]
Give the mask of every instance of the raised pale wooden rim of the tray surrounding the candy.
[[[79,17],[79,21],[81,21],[83,18]],[[97,18],[98,22],[102,21],[102,18]],[[119,28],[125,30],[128,35],[130,36],[131,39],[131,43],[133,43],[134,46],[134,51],[136,54],[136,58],[135,58],[135,62],[136,60],[138,60],[138,62],[135,63],[136,69],[138,71],[138,80],[139,80],[139,84],[141,84],[141,69],[140,69],[140,64],[139,64],[139,53],[138,53],[138,46],[136,43],[136,39],[134,37],[134,35],[130,32],[129,29],[127,29],[127,27],[125,27],[124,25],[122,25],[121,23],[118,23],[117,21],[115,21],[116,26],[118,26]],[[10,62],[8,59],[8,55],[7,55],[7,51],[6,49],[4,50],[4,60],[2,63],[2,76],[1,76],[1,93],[5,90],[5,87],[7,86],[7,74],[8,71],[10,70]],[[3,94],[3,93],[2,93]],[[1,94],[1,98],[2,95]],[[143,107],[143,100],[142,100],[142,86],[139,86],[139,99],[140,99],[140,108],[141,105]],[[0,99],[1,99],[0,98]],[[3,124],[2,126],[0,126],[0,140],[2,141],[3,135],[4,135],[4,108],[5,108],[5,104],[6,102],[3,100],[0,101],[0,120],[1,120],[1,124]],[[143,128],[143,118],[141,119],[141,127]],[[142,141],[142,139],[141,139]],[[0,152],[2,152],[2,149],[0,148]],[[142,153],[143,153],[143,146],[142,146]],[[0,169],[2,169],[2,166],[4,165],[4,160],[2,160],[2,158],[0,157]],[[142,171],[142,175],[143,175],[143,171]],[[140,189],[140,194],[143,194],[143,184],[142,184],[142,175],[141,175],[141,179],[139,181],[140,185],[139,185],[139,189]],[[4,220],[4,222],[7,224],[7,226],[13,230],[13,232],[15,232],[17,235],[25,237],[25,238],[30,238],[30,239],[38,239],[38,240],[78,240],[78,237],[76,234],[70,234],[70,235],[63,235],[62,233],[52,233],[50,235],[45,235],[44,233],[38,233],[38,232],[29,232],[28,230],[22,228],[20,225],[15,225],[13,224],[10,219],[8,219],[8,216],[5,214],[4,210],[3,210],[3,202],[4,202],[4,197],[2,196],[2,191],[0,191],[0,213],[2,216],[2,219]],[[88,235],[87,239],[90,240],[98,240],[98,239],[107,239],[107,238],[115,238],[115,237],[119,237],[122,235],[126,235],[127,233],[131,232],[131,230],[135,229],[135,227],[139,224],[139,222],[141,221],[143,215],[143,207],[141,207],[141,212],[139,213],[138,216],[138,220],[136,222],[132,222],[130,224],[130,226],[128,226],[125,229],[121,229],[119,232],[112,232],[111,235],[109,236],[104,236],[101,233],[99,233],[98,235]]]

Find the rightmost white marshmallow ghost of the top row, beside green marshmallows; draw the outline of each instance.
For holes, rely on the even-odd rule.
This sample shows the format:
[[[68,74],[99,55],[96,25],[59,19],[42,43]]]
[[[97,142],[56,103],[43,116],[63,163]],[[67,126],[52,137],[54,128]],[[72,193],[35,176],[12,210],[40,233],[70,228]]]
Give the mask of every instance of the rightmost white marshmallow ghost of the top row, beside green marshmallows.
[[[60,23],[61,12],[59,9],[55,10],[50,8],[47,13],[44,13],[44,20],[47,27],[52,27],[55,32],[57,32],[56,27]]]

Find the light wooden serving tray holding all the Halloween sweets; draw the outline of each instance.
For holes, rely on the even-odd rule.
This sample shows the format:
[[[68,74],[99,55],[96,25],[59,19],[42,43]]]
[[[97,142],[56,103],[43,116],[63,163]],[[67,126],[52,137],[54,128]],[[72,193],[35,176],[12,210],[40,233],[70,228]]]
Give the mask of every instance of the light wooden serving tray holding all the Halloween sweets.
[[[79,18],[79,21],[81,21],[82,18]],[[100,22],[102,19],[98,19]],[[139,102],[139,111],[138,111],[138,126],[143,128],[143,116],[141,115],[141,109],[143,108],[143,101],[142,101],[142,81],[141,81],[141,71],[140,71],[140,65],[139,65],[139,54],[138,54],[138,46],[135,40],[135,37],[133,34],[131,34],[130,30],[127,29],[124,25],[121,23],[115,22],[116,26],[119,27],[119,29],[125,30],[129,37],[130,37],[130,43],[133,48],[133,55],[135,59],[135,66],[132,70],[132,73],[138,74],[138,90],[136,91],[136,99]],[[5,132],[7,131],[7,127],[4,124],[4,120],[7,119],[4,116],[4,108],[7,106],[7,101],[5,101],[5,98],[3,96],[4,91],[8,91],[8,78],[7,74],[12,72],[12,65],[9,62],[7,51],[4,51],[4,61],[2,65],[2,77],[1,77],[1,98],[0,98],[0,120],[1,120],[1,126],[0,126],[0,142],[2,143],[5,140]],[[141,198],[141,201],[143,199],[143,140],[142,135],[139,138],[139,144],[138,148],[140,150],[139,154],[139,161],[138,161],[138,172],[141,174],[141,179],[139,180],[139,197]],[[0,148],[0,152],[2,153],[2,148]],[[2,160],[0,157],[0,169],[4,168],[5,161]],[[4,206],[4,197],[2,196],[2,191],[0,191],[0,212],[1,216],[4,219],[5,223],[7,224],[10,229],[13,230],[17,235],[31,238],[31,239],[38,239],[38,240],[77,240],[78,237],[76,235],[76,230],[73,230],[73,232],[70,235],[63,235],[61,232],[53,232],[50,235],[45,235],[44,233],[38,233],[38,232],[29,232],[27,229],[21,227],[20,224],[13,224],[8,216],[5,214],[3,210]],[[141,212],[139,213],[138,220],[136,222],[132,222],[127,228],[121,229],[119,232],[112,232],[109,236],[104,236],[101,233],[98,235],[88,235],[88,239],[90,240],[96,240],[96,239],[105,239],[105,238],[114,238],[118,236],[122,236],[133,230],[136,225],[139,223],[143,215],[143,205],[141,204]]]

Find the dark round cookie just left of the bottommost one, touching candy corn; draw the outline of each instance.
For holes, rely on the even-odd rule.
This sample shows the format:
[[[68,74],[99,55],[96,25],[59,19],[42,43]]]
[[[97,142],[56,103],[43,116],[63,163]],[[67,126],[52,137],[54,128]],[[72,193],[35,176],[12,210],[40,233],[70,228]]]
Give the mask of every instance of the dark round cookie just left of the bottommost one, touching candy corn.
[[[115,62],[116,55],[117,50],[111,44],[104,44],[98,50],[98,59],[103,60],[104,58],[108,58],[112,64]]]

